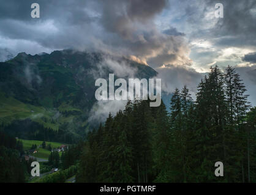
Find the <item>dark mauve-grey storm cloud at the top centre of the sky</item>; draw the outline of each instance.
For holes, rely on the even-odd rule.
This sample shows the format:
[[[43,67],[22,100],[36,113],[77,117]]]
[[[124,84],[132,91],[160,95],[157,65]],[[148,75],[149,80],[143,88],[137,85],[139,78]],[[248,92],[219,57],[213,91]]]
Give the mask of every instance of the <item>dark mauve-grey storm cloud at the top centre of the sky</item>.
[[[105,29],[124,37],[136,30],[136,27],[131,28],[134,27],[134,23],[148,23],[167,5],[167,0],[109,0],[101,2],[101,22]]]

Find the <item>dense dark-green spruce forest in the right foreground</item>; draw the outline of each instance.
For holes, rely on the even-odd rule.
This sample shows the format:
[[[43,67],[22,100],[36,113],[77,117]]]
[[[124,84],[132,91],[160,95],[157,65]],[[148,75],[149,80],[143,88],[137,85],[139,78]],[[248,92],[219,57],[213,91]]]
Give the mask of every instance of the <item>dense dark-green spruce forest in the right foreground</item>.
[[[198,85],[164,103],[127,102],[88,133],[77,182],[256,182],[256,109],[235,69],[215,66]],[[224,177],[216,177],[217,161]]]

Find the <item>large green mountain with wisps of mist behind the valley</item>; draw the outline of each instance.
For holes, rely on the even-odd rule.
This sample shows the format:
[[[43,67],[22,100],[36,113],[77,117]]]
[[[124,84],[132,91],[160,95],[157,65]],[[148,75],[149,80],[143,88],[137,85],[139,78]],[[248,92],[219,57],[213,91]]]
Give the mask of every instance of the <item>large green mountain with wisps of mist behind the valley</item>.
[[[130,76],[146,78],[156,71],[108,54],[54,51],[20,53],[0,63],[0,128],[24,139],[73,143],[95,124],[88,122],[96,102],[95,80]]]

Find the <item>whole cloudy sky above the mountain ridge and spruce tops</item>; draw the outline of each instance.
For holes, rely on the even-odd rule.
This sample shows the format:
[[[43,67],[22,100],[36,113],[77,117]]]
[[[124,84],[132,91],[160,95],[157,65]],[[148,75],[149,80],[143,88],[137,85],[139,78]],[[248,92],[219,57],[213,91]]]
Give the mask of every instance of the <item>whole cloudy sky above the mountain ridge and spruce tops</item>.
[[[31,18],[34,2],[40,18]],[[254,105],[255,32],[255,0],[0,0],[2,61],[70,48],[123,55],[156,69],[167,93],[183,85],[195,93],[211,66],[232,65]]]

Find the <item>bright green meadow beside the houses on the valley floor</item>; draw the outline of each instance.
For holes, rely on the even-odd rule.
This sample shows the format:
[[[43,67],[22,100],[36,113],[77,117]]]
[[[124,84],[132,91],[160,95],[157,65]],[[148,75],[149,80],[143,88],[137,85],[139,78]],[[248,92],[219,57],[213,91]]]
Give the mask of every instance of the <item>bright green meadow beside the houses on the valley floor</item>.
[[[22,139],[20,140],[23,143],[24,151],[28,151],[29,149],[31,149],[32,144],[37,144],[37,146],[39,146],[39,145],[42,145],[43,143],[43,141],[39,141],[39,140],[22,140]],[[49,141],[46,141],[45,144],[46,144],[46,147],[48,146],[48,144],[51,144],[51,148],[59,147],[62,145],[62,143],[49,142]],[[51,153],[50,151],[48,151],[47,149],[43,149],[42,147],[37,148],[36,151],[37,153],[32,155],[36,158],[43,158],[43,159],[48,159]],[[61,155],[61,152],[59,153],[60,153],[59,155]]]

